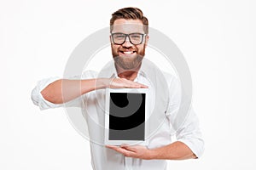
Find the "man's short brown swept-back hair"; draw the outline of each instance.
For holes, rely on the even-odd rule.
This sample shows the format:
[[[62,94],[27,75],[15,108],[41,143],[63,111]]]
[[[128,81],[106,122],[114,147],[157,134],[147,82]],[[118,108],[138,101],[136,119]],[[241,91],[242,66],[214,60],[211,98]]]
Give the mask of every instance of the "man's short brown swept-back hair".
[[[115,20],[125,19],[125,20],[141,20],[144,25],[144,31],[148,34],[148,19],[143,15],[143,11],[139,8],[120,8],[112,14],[110,19],[110,31],[112,31],[112,26]]]

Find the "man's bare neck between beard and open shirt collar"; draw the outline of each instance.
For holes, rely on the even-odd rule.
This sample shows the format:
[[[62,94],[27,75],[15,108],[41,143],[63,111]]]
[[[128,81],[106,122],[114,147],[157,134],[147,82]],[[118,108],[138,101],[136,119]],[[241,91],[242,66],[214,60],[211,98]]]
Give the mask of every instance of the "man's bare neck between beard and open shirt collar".
[[[119,65],[115,65],[118,76],[120,78],[125,78],[125,79],[131,80],[131,81],[134,81],[136,79],[137,72],[139,71],[140,67],[141,67],[141,65],[137,66],[137,68],[132,69],[132,70],[125,70],[125,69],[119,67]]]

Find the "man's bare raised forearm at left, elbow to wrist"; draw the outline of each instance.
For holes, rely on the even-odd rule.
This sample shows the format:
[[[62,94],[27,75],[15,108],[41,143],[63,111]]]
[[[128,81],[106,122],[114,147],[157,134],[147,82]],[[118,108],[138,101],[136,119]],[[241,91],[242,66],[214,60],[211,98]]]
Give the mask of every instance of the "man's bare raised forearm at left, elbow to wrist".
[[[90,91],[107,88],[109,80],[105,78],[87,80],[60,79],[50,83],[41,91],[44,99],[54,104],[63,104]]]

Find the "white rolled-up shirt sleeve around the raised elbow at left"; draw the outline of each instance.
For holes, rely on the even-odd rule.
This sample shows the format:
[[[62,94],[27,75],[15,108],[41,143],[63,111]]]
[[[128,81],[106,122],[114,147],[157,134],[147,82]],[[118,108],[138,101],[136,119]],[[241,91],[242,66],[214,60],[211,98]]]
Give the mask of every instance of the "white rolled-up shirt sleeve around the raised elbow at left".
[[[89,79],[96,77],[95,71],[85,71],[82,76],[74,76],[70,77],[70,79]],[[45,78],[43,80],[38,81],[35,88],[32,89],[32,102],[34,105],[38,105],[40,110],[46,110],[49,108],[58,108],[58,107],[82,107],[83,101],[84,101],[84,95],[80,96],[79,98],[73,99],[71,101],[68,101],[64,104],[54,104],[49,102],[48,100],[44,99],[43,95],[41,94],[41,91],[46,88],[50,83],[55,82],[56,80],[61,79],[60,77],[50,77]]]

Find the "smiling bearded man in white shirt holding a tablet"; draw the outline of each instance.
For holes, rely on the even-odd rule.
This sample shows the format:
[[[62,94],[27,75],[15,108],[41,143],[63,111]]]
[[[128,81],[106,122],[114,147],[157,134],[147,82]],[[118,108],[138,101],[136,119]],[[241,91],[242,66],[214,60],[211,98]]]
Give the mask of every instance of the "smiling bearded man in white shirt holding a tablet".
[[[143,71],[142,67],[148,43],[148,19],[143,16],[143,12],[139,8],[121,8],[112,14],[110,26],[114,60],[113,75],[97,77],[96,72],[88,71],[82,76],[82,80],[44,79],[32,91],[34,104],[40,109],[64,105],[86,107],[83,111],[90,131],[91,162],[93,169],[96,170],[159,170],[166,169],[165,160],[182,160],[201,156],[204,143],[197,117],[192,110],[189,111],[182,126],[175,129],[177,141],[172,142],[172,123],[175,120],[173,117],[177,113],[181,94],[178,92],[175,78],[166,74],[166,87],[169,89],[169,93],[166,93],[167,99],[161,102],[154,101],[155,105],[161,105],[156,114],[163,118],[163,122],[159,123],[160,126],[157,126],[154,134],[147,139],[148,145],[102,145],[103,130],[95,125],[102,125],[104,120],[104,111],[100,109],[100,105],[96,104],[96,100],[104,103],[102,90],[104,88],[148,88],[150,90],[154,88],[152,83],[160,82],[159,76],[156,76],[155,80],[148,81],[150,71]],[[107,70],[111,72],[111,69]],[[65,94],[62,90],[63,84],[67,87]],[[160,96],[160,98],[163,97]],[[151,121],[149,126],[154,126],[156,122]]]

